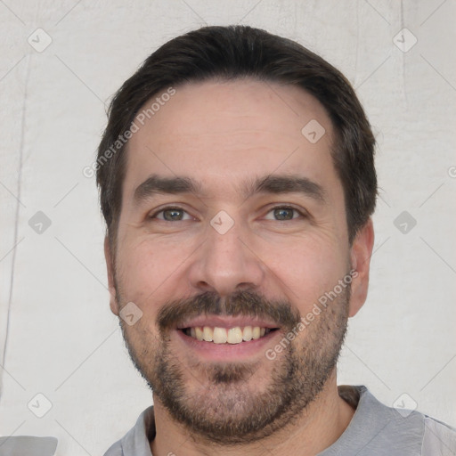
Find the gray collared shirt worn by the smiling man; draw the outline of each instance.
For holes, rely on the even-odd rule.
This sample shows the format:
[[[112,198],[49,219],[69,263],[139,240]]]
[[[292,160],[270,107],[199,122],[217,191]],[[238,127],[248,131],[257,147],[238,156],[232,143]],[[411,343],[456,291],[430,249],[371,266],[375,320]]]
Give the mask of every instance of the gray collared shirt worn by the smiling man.
[[[387,407],[366,387],[338,389],[356,411],[342,436],[318,456],[456,456],[455,428],[418,411]],[[150,442],[154,437],[151,406],[104,456],[153,456]]]

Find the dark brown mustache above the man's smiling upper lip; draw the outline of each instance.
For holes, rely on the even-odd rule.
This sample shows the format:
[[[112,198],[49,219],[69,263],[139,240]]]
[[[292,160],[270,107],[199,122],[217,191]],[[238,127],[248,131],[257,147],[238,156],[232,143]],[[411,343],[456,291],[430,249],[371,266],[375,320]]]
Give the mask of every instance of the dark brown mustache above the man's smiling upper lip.
[[[265,318],[277,326],[291,330],[301,321],[301,314],[287,300],[270,300],[254,291],[241,290],[227,297],[206,291],[194,297],[176,299],[163,305],[157,315],[162,334],[185,321],[202,315],[230,315]]]

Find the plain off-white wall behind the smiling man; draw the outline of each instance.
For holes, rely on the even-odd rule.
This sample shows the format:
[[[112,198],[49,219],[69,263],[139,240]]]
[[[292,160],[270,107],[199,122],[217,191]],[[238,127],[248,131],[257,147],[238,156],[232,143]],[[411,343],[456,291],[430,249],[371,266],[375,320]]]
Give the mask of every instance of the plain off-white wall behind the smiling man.
[[[353,83],[379,147],[366,305],[339,383],[456,425],[454,0],[0,2],[0,436],[56,436],[102,454],[151,404],[110,314],[91,165],[105,102],[171,37],[242,23],[296,39]],[[402,28],[418,39],[407,53]],[[30,40],[43,28],[52,44]],[[402,38],[403,37],[403,38]],[[399,35],[404,45],[413,37]],[[43,211],[41,234],[28,224]],[[403,233],[407,211],[417,224]],[[28,410],[37,393],[53,407]],[[42,401],[43,403],[43,401]]]

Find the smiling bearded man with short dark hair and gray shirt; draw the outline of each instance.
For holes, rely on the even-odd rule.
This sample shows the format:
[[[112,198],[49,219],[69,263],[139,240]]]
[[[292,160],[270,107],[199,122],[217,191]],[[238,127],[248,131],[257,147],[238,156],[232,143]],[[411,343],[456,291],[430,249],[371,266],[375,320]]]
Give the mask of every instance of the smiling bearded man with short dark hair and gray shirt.
[[[99,147],[110,308],[154,405],[106,456],[455,454],[338,387],[374,240],[374,138],[304,47],[208,27],[120,88]]]

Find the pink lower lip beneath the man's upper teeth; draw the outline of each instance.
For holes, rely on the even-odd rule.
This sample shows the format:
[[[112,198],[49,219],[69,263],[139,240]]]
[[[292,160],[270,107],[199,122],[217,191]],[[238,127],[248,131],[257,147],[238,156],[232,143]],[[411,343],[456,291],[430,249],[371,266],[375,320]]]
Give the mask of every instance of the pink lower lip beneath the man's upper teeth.
[[[272,346],[272,341],[277,338],[281,331],[274,330],[268,332],[262,338],[240,342],[239,344],[215,344],[205,342],[187,336],[182,330],[173,331],[177,339],[182,341],[187,349],[196,352],[200,357],[207,361],[240,361],[243,358],[253,357],[258,354],[265,354],[267,346]],[[173,337],[171,337],[172,339]]]

